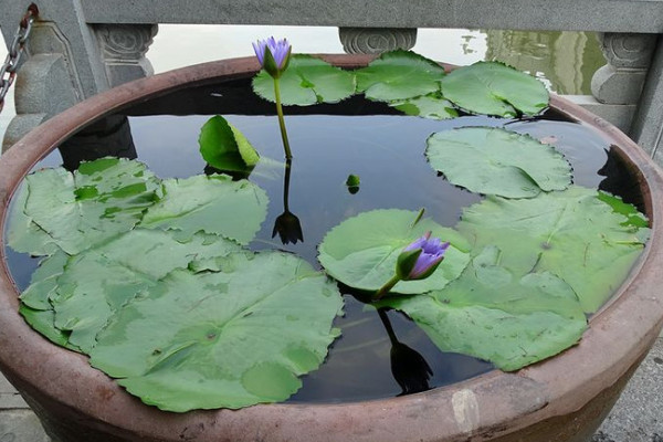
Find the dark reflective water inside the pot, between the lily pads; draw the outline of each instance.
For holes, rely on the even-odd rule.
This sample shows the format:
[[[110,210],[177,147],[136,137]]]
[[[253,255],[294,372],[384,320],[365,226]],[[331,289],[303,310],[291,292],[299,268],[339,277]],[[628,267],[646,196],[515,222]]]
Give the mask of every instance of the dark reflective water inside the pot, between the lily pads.
[[[217,110],[238,127],[262,156],[250,180],[265,189],[269,213],[253,250],[278,249],[298,254],[316,269],[316,246],[325,233],[348,217],[378,208],[419,210],[442,225],[453,227],[463,208],[481,197],[450,185],[425,161],[427,138],[434,131],[459,126],[505,126],[535,138],[555,137],[555,145],[573,167],[575,183],[620,193],[633,183],[610,145],[591,128],[564,122],[554,112],[526,120],[464,116],[431,120],[399,115],[377,103],[352,97],[339,105],[286,107],[286,126],[294,159],[290,182],[290,209],[298,217],[304,241],[284,245],[272,238],[274,220],[283,212],[284,162],[273,105],[253,96],[248,81],[178,92],[126,109],[125,115],[102,120],[61,146],[38,167],[53,166],[64,158],[73,166],[80,154],[107,155],[109,146],[123,156],[137,157],[160,178],[202,173],[206,164],[198,152],[201,126]],[[213,110],[212,110],[213,109]],[[251,112],[246,112],[250,109]],[[168,115],[182,114],[182,115]],[[245,115],[251,114],[251,115]],[[91,159],[91,158],[87,158]],[[612,170],[606,178],[607,165]],[[361,179],[357,193],[345,185],[348,175]],[[622,196],[636,201],[636,196]],[[7,250],[9,267],[20,288],[29,284],[36,261]],[[485,361],[440,351],[404,315],[387,312],[386,318],[356,301],[340,286],[346,315],[335,326],[337,339],[325,364],[303,378],[304,387],[292,402],[335,402],[398,396],[401,387],[392,376],[392,364],[404,364],[411,385],[421,385],[422,364],[432,376],[430,388],[445,386],[486,372]],[[392,329],[392,330],[391,330]],[[390,337],[391,335],[391,337]],[[421,355],[406,352],[406,361],[391,360],[392,339]],[[415,362],[412,362],[415,361]],[[417,362],[419,361],[419,362]],[[401,371],[402,372],[402,371]],[[402,380],[402,379],[401,379]]]

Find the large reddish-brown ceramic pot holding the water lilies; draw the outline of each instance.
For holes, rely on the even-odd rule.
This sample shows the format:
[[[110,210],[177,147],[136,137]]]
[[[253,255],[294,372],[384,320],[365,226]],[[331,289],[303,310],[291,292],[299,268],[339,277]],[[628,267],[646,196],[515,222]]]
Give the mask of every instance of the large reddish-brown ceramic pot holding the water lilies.
[[[328,56],[344,67],[362,56]],[[21,179],[71,134],[129,104],[185,85],[248,77],[254,59],[191,66],[125,84],[34,129],[0,158],[0,230]],[[239,411],[168,413],[143,404],[86,357],[56,347],[18,314],[18,292],[0,267],[0,368],[55,440],[76,441],[587,441],[663,325],[663,177],[627,136],[552,96],[551,106],[608,138],[635,176],[652,236],[579,345],[517,372],[492,371],[423,393],[344,404],[266,404]],[[3,248],[0,262],[4,263]]]

